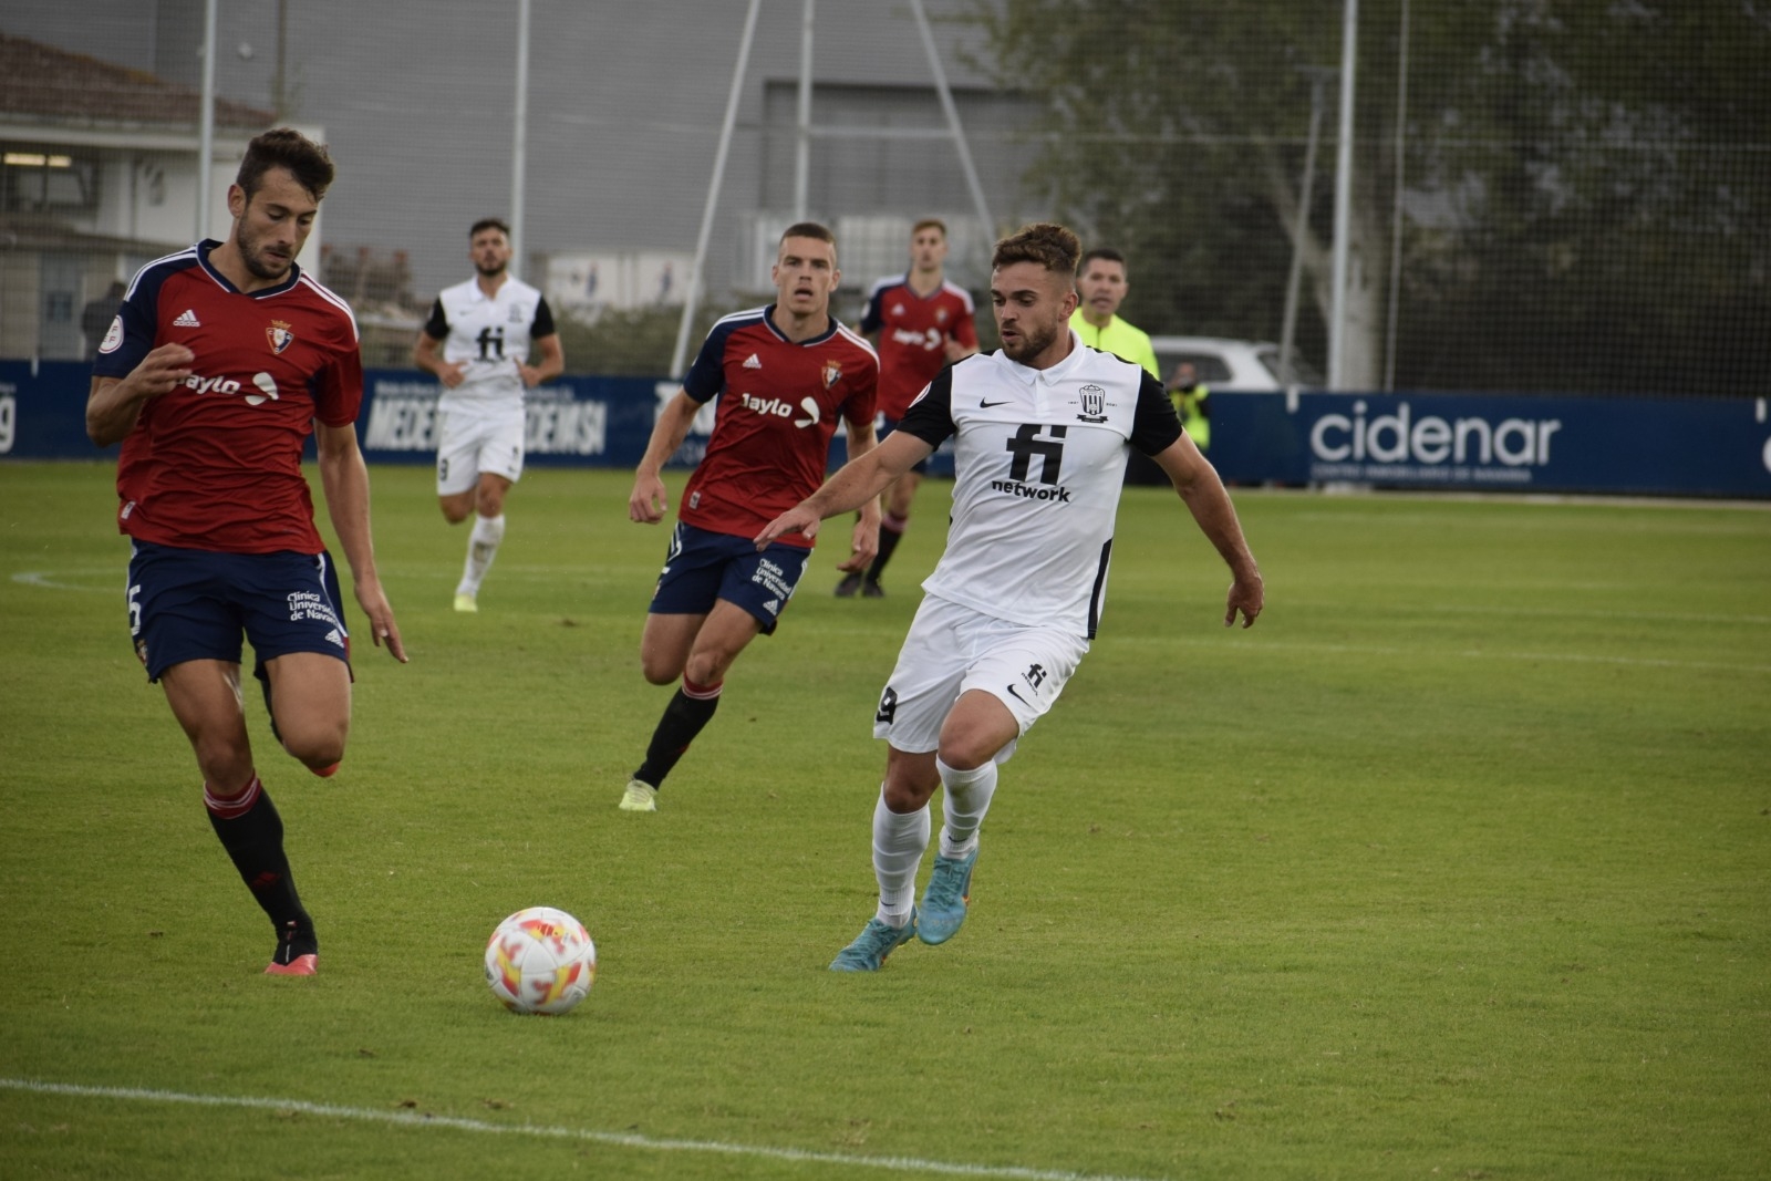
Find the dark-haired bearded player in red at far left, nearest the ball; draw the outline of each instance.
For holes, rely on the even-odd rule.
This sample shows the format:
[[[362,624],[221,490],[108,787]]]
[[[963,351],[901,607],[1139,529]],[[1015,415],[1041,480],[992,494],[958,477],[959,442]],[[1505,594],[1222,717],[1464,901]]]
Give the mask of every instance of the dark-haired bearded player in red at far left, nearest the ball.
[[[209,822],[276,930],[273,976],[312,976],[319,938],[253,765],[241,634],[283,749],[329,776],[351,729],[338,575],[301,475],[308,434],[370,637],[406,660],[375,574],[352,425],[363,400],[356,320],[296,266],[331,179],[326,149],[303,135],[255,138],[228,186],[228,239],[136,273],[87,397],[92,441],[124,441],[129,632],[197,754]]]

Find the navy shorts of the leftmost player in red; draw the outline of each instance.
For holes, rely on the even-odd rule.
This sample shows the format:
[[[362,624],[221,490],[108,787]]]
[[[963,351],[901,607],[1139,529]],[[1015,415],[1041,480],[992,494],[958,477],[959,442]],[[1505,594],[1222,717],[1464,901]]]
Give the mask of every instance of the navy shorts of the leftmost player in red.
[[[184,660],[239,664],[243,634],[260,680],[266,660],[290,652],[351,664],[338,572],[324,551],[216,554],[135,542],[129,634],[151,682]]]

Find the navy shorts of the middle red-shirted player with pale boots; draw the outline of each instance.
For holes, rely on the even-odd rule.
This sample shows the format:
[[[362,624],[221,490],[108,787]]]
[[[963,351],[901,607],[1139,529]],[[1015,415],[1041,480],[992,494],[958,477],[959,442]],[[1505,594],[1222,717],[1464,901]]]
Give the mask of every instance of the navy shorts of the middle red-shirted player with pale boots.
[[[756,544],[730,533],[710,533],[677,522],[669,535],[669,552],[652,591],[652,614],[707,614],[714,600],[724,598],[744,607],[774,634],[776,620],[806,572],[809,549],[774,542],[756,552]]]

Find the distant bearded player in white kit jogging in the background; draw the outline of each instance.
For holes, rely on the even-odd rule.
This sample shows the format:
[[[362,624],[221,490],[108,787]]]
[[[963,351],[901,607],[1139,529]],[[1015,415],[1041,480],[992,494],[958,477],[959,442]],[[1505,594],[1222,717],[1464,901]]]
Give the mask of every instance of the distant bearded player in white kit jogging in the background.
[[[437,503],[450,524],[475,513],[457,611],[480,609],[480,583],[505,540],[505,494],[522,478],[522,391],[565,372],[547,299],[510,274],[510,227],[475,221],[468,259],[478,274],[437,296],[413,345],[413,363],[443,382]],[[540,365],[530,365],[531,345]]]

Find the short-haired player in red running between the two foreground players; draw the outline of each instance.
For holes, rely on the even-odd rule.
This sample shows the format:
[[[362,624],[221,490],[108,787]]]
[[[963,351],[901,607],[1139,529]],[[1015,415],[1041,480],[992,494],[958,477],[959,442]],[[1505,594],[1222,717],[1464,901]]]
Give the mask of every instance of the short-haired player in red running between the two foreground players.
[[[622,795],[623,811],[657,811],[664,777],[719,708],[726,669],[758,634],[774,632],[806,570],[809,535],[785,531],[767,547],[751,538],[824,482],[838,421],[850,455],[873,450],[878,358],[831,315],[836,237],[813,221],[790,225],[772,276],[776,303],[714,324],[634,473],[627,515],[657,524],[668,508],[659,471],[696,413],[719,398],[639,641],[646,680],[682,678],[682,687]],[[877,549],[878,505],[868,505],[841,568],[864,570]]]

